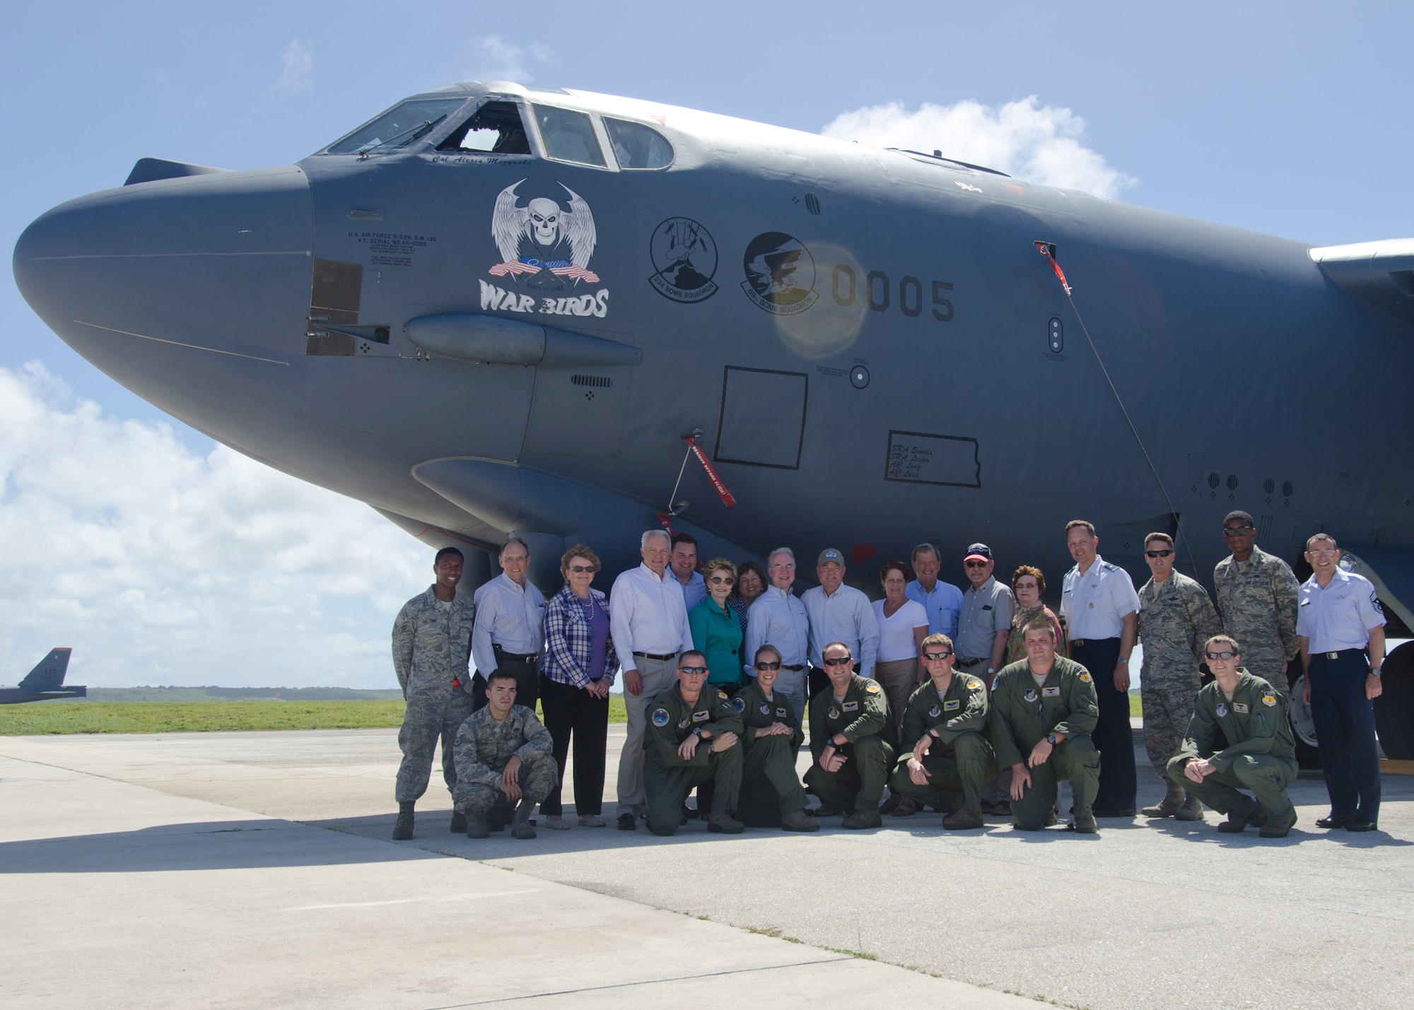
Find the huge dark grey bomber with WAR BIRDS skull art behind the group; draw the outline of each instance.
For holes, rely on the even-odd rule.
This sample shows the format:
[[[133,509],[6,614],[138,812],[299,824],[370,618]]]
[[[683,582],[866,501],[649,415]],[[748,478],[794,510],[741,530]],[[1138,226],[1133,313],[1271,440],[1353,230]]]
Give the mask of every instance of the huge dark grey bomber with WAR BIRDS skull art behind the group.
[[[566,545],[612,573],[666,523],[704,557],[837,546],[861,584],[986,540],[1058,588],[1087,518],[1140,576],[1176,535],[1210,584],[1246,508],[1288,560],[1332,532],[1414,624],[1414,240],[1312,248],[943,146],[458,83],[294,166],[143,158],[31,224],[14,274],[173,416],[481,549],[472,581],[512,532],[553,588]],[[1384,666],[1391,757],[1411,668]]]

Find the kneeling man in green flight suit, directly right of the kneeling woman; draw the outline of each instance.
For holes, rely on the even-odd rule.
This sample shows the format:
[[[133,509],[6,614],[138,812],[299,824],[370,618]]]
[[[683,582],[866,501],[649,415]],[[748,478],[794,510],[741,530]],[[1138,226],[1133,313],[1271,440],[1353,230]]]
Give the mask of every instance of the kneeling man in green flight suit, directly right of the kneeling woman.
[[[805,784],[823,803],[817,813],[846,813],[853,830],[880,828],[880,798],[894,748],[880,733],[888,726],[884,689],[854,672],[850,646],[820,649],[830,685],[810,699],[810,755]]]

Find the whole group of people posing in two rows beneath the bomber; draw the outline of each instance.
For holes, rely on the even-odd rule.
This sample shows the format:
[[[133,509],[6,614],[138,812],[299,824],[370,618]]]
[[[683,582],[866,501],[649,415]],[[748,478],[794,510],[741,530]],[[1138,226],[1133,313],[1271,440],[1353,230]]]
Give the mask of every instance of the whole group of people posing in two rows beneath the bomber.
[[[1128,665],[1140,641],[1145,750],[1167,786],[1144,815],[1202,820],[1206,803],[1227,815],[1219,830],[1290,832],[1287,663],[1299,655],[1331,795],[1316,826],[1372,830],[1380,781],[1370,700],[1384,651],[1373,587],[1340,569],[1328,533],[1307,543],[1314,574],[1304,584],[1256,546],[1249,513],[1229,513],[1223,538],[1232,553],[1213,573],[1215,607],[1174,570],[1168,533],[1145,538],[1151,579],[1135,591],[1099,556],[1094,526],[1073,521],[1065,539],[1076,563],[1059,614],[1041,600],[1039,569],[1024,564],[1000,583],[984,543],[963,557],[966,591],[939,579],[937,547],[921,543],[911,564],[881,566],[872,603],[844,584],[833,547],[816,559],[819,586],[796,596],[789,547],[771,552],[765,570],[723,557],[700,564],[690,535],[653,529],[642,563],[608,596],[592,587],[594,552],[567,550],[564,586],[549,600],[526,577],[520,539],[474,600],[457,593],[461,553],[444,547],[436,583],[393,627],[407,697],[393,837],[413,835],[438,740],[451,830],[488,837],[509,826],[534,837],[536,805],[546,828],[568,829],[571,744],[577,823],[607,826],[608,702],[619,675],[621,830],[643,822],[672,835],[703,816],[710,832],[810,832],[816,818],[840,815],[864,829],[923,808],[942,811],[946,829],[1010,815],[1034,830],[1058,822],[1065,779],[1068,828],[1094,832],[1096,818],[1137,812]],[[1205,663],[1213,679],[1202,686]]]

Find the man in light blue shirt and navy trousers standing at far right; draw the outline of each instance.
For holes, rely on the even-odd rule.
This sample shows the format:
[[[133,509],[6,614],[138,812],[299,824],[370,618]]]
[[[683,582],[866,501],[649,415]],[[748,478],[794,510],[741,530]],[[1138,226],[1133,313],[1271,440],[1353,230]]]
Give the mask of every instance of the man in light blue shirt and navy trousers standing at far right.
[[[1307,540],[1312,574],[1301,584],[1297,641],[1321,743],[1321,770],[1331,794],[1329,816],[1316,828],[1373,832],[1380,819],[1380,761],[1374,707],[1384,662],[1384,613],[1365,576],[1340,569],[1329,533]]]

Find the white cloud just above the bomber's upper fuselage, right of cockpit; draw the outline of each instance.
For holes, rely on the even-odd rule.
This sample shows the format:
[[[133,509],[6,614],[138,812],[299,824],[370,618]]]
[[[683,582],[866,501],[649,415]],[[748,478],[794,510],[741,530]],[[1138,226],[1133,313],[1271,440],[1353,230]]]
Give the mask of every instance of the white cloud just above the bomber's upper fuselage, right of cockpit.
[[[1110,167],[1082,143],[1085,120],[1032,95],[1000,109],[980,102],[875,105],[834,117],[822,133],[874,147],[942,150],[943,157],[987,166],[1042,185],[1082,190],[1110,199],[1138,180]]]

